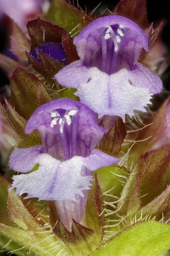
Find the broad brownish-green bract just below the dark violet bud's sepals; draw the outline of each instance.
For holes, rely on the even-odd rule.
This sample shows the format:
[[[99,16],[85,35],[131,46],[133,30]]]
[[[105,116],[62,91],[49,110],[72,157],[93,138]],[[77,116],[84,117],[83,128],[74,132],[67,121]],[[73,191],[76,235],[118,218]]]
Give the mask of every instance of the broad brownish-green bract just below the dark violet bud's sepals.
[[[10,78],[10,85],[12,106],[25,119],[29,119],[40,105],[51,101],[43,83],[19,65]]]

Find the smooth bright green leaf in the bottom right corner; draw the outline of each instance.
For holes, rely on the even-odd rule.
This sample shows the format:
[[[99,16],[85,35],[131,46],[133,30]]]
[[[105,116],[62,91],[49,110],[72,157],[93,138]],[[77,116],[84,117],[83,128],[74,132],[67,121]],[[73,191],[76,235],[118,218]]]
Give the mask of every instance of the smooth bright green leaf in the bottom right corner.
[[[170,248],[170,225],[146,221],[130,226],[91,256],[161,256]]]

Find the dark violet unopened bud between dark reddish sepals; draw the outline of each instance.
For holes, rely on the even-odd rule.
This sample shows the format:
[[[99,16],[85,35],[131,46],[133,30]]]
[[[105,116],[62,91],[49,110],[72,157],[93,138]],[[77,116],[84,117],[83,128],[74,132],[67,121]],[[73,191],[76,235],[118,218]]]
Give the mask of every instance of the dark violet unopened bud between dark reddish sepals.
[[[35,58],[36,61],[40,61],[38,51],[42,51],[43,53],[53,58],[54,60],[61,61],[63,64],[66,64],[68,61],[66,53],[64,52],[64,49],[61,44],[49,42],[49,43],[40,44],[38,47],[34,48],[30,52],[30,55],[33,58]]]

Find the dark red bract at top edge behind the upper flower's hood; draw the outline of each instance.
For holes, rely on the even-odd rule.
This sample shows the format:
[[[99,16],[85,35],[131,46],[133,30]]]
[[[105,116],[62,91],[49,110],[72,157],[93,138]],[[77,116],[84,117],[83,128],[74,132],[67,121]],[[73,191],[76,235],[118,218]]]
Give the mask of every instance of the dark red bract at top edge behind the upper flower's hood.
[[[146,0],[121,0],[115,7],[113,15],[127,17],[142,28],[148,25]]]

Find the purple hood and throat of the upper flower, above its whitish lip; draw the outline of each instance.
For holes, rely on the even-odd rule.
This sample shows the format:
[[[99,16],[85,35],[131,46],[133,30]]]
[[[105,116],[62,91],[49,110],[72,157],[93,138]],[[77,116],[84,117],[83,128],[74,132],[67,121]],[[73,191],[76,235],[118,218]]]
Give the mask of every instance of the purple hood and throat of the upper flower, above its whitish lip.
[[[131,70],[141,50],[148,51],[144,31],[133,21],[116,15],[92,21],[74,44],[86,67],[98,67],[109,75],[122,68]]]

